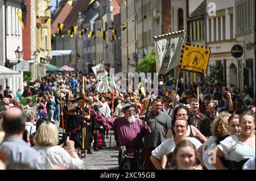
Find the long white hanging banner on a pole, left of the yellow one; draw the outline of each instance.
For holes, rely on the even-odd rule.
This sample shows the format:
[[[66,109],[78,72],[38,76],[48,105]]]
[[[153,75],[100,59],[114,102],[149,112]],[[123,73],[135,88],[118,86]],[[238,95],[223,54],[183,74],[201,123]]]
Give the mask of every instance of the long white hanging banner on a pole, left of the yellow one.
[[[178,31],[155,37],[156,72],[167,74],[180,64],[183,33]]]

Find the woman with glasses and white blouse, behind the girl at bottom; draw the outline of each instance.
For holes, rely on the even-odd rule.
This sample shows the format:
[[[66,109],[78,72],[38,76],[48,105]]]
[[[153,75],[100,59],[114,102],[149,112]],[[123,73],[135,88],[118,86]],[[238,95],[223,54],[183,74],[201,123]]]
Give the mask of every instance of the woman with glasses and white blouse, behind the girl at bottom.
[[[174,125],[175,137],[164,140],[162,144],[160,144],[158,147],[155,148],[155,150],[152,151],[150,160],[154,164],[156,169],[165,169],[166,163],[161,163],[160,159],[162,159],[162,157],[166,155],[168,161],[171,162],[172,154],[174,153],[176,144],[179,143],[181,140],[191,141],[196,146],[196,149],[202,145],[201,142],[196,138],[188,137],[186,135],[187,129],[187,119],[185,119],[184,117],[177,117]]]

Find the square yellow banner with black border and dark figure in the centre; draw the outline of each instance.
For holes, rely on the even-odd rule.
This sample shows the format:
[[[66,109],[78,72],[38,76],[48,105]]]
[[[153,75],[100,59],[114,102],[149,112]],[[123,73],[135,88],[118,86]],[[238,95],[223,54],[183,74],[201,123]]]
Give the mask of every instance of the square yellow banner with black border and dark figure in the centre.
[[[183,48],[181,69],[206,73],[209,58],[210,49],[185,45],[185,47]]]

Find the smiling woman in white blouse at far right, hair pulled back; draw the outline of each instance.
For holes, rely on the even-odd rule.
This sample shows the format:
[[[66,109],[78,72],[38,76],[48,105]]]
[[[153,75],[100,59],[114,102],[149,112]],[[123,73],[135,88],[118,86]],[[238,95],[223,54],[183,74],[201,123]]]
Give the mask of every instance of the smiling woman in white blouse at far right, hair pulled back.
[[[240,117],[241,133],[234,134],[221,141],[214,148],[216,151],[216,169],[242,169],[243,164],[251,157],[255,157],[255,115],[252,111],[243,113]],[[228,163],[222,164],[221,158],[228,155]]]

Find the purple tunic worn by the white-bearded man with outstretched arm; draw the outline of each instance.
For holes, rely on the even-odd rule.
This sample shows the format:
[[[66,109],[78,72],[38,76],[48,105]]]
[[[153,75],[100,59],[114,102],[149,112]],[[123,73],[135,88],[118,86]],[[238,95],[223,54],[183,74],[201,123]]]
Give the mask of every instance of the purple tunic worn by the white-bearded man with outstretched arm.
[[[120,146],[137,145],[141,148],[142,138],[151,133],[148,125],[146,125],[146,128],[142,127],[143,121],[139,118],[135,118],[134,124],[127,124],[124,117],[106,118],[101,116],[101,113],[98,111],[93,118],[98,123],[104,125],[106,129],[110,129],[117,134]],[[126,148],[126,150],[132,152],[129,148]]]

